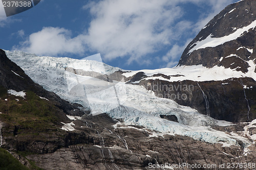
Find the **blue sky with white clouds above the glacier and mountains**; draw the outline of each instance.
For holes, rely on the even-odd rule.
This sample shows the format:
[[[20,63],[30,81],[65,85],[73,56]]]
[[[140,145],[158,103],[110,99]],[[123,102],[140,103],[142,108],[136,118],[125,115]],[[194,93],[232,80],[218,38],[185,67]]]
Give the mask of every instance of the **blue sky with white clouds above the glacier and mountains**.
[[[0,48],[81,59],[100,53],[123,69],[175,66],[206,23],[238,0],[43,0],[6,17]]]

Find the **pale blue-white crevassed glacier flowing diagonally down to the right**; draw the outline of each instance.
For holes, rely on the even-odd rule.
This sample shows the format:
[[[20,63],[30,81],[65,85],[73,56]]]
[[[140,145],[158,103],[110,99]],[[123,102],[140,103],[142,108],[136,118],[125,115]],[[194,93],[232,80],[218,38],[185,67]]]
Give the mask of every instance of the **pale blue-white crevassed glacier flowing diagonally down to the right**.
[[[75,71],[67,69],[69,67],[110,75],[117,70],[122,70],[118,67],[93,60],[38,57],[34,54],[16,51],[6,51],[6,54],[8,58],[23,68],[33,81],[45,89],[55,92],[60,98],[71,103],[81,104],[93,115],[106,113],[113,119],[124,120],[123,123],[117,124],[141,125],[161,134],[185,135],[210,143],[223,143],[227,146],[238,145],[238,141],[243,141],[245,147],[251,144],[246,137],[226,134],[211,128],[214,125],[228,125],[228,122],[220,122],[200,114],[195,109],[181,106],[173,100],[157,98],[153,91],[146,90],[142,86],[77,75]],[[188,72],[186,68],[185,70]],[[170,74],[170,72],[181,73],[182,70],[179,67],[176,70],[166,68],[160,71]],[[124,75],[129,77],[135,72],[137,71],[129,71]],[[157,70],[145,72],[152,75]],[[195,74],[195,71],[190,70],[190,74]],[[160,115],[175,115],[179,123],[160,118]],[[69,118],[72,119],[72,117]],[[63,125],[63,130],[74,130],[71,126],[73,122]]]

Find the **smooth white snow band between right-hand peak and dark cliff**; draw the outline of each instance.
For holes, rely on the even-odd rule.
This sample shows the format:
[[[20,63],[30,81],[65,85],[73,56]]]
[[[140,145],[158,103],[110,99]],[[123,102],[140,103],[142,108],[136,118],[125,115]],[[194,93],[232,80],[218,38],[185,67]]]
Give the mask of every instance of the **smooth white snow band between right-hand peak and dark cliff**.
[[[154,70],[136,70],[125,72],[122,75],[125,77],[132,77],[138,72],[144,72],[146,78],[141,80],[164,80],[169,82],[191,80],[191,81],[222,81],[229,78],[241,78],[241,77],[250,77],[256,80],[255,66],[256,64],[253,61],[248,61],[249,68],[248,72],[237,71],[236,69],[225,68],[223,66],[214,66],[212,68],[207,68],[202,65],[191,65],[191,66],[177,66],[173,68],[161,68]],[[168,76],[157,76],[162,74]]]

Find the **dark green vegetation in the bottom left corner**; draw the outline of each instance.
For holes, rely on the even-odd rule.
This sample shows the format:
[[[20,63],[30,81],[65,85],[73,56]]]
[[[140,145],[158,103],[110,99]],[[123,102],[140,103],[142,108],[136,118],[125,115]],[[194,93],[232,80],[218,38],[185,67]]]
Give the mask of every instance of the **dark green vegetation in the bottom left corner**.
[[[14,158],[9,152],[0,148],[0,169],[1,170],[29,170],[26,166],[21,164],[16,158]]]

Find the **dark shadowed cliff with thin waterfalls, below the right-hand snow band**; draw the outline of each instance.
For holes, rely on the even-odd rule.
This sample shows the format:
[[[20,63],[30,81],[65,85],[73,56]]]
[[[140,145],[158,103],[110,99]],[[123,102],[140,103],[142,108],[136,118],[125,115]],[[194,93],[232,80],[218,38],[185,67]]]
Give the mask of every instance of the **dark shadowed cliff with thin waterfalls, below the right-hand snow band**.
[[[148,83],[151,86],[147,86]],[[232,78],[224,81],[206,82],[141,80],[139,85],[148,90],[153,90],[156,96],[160,98],[172,99],[180,105],[189,106],[197,109],[202,114],[207,114],[203,91],[208,102],[209,116],[219,120],[247,122],[256,118],[256,82],[251,78]],[[157,90],[150,88],[154,85],[158,86]],[[246,85],[246,88],[244,88],[244,85]],[[182,95],[185,97],[183,98]]]

